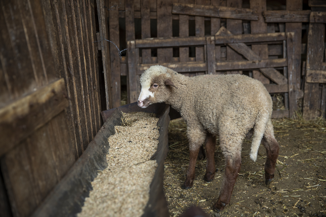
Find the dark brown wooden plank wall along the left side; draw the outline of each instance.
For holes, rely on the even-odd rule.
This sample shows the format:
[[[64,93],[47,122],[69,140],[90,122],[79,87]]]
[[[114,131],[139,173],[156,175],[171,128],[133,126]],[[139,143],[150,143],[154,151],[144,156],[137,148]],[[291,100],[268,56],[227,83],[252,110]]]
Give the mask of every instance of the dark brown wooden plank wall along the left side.
[[[0,6],[0,216],[29,216],[101,126],[97,11],[94,0]]]

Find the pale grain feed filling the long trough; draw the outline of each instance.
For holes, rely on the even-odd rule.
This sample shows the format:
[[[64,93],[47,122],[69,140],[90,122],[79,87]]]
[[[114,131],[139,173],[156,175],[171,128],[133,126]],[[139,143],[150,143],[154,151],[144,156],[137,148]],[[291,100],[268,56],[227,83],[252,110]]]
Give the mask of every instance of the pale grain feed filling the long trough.
[[[78,217],[141,216],[149,199],[150,183],[157,167],[150,157],[159,137],[154,114],[123,114],[122,126],[108,138],[108,167],[98,171],[93,190]]]

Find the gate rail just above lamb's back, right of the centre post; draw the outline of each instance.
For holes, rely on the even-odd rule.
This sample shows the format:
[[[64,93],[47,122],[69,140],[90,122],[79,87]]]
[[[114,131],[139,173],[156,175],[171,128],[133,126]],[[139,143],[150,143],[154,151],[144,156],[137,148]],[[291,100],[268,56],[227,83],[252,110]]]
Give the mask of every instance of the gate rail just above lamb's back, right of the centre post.
[[[257,61],[223,61],[216,63],[216,70],[244,70],[270,67],[282,67],[288,64],[287,59],[267,59]]]

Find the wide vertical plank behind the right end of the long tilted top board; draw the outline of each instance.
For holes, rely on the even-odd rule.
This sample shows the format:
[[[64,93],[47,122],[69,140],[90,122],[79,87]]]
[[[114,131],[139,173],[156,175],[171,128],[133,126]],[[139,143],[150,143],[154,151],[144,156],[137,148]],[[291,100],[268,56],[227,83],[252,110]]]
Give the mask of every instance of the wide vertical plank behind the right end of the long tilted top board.
[[[267,33],[267,23],[264,21],[262,12],[266,10],[266,0],[250,0],[250,9],[257,10],[258,21],[250,21],[251,34]],[[267,44],[251,45],[251,50],[257,53],[262,59],[268,59]],[[261,81],[263,84],[269,84],[270,80],[266,78],[259,70],[253,70],[254,79]]]

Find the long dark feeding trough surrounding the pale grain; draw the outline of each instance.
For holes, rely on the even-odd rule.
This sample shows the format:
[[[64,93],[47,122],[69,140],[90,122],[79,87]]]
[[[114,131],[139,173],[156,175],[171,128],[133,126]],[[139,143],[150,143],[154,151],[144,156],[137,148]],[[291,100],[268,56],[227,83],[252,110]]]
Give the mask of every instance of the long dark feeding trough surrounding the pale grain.
[[[142,216],[169,216],[163,192],[164,160],[168,152],[169,110],[169,105],[164,103],[153,104],[147,108],[140,108],[137,103],[132,103],[103,111],[105,123],[94,140],[32,216],[77,216],[82,210],[85,198],[92,190],[91,182],[97,176],[97,170],[107,167],[106,154],[110,151],[108,137],[115,134],[114,126],[121,125],[122,112],[137,111],[156,114],[159,118],[157,126],[160,126],[157,151],[151,157],[151,160],[156,160],[158,166]]]

